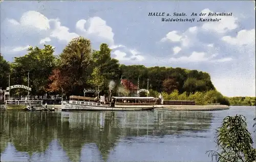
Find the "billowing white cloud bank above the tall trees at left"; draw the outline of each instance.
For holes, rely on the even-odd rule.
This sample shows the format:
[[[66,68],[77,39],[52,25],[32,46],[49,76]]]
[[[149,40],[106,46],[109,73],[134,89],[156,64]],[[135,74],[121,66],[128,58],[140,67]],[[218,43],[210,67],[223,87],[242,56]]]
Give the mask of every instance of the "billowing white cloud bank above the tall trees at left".
[[[73,38],[80,35],[91,39],[92,42],[107,43],[112,50],[120,49],[115,51],[118,60],[144,60],[144,57],[137,50],[129,49],[120,44],[116,45],[114,43],[114,33],[112,28],[106,24],[105,20],[101,19],[100,17],[91,17],[88,20],[78,20],[76,22],[77,33],[70,32],[70,29],[67,26],[61,25],[59,19],[49,19],[36,11],[25,12],[20,18],[19,22],[14,19],[7,19],[7,21],[9,22],[9,25],[14,26],[14,28],[12,28],[13,31],[16,32],[19,30],[22,33],[17,35],[22,35],[23,37],[28,37],[29,35],[31,38],[33,37],[34,39],[39,39],[39,41],[33,41],[39,42],[39,44],[50,42],[52,41],[52,38],[55,38],[61,42],[68,43]],[[28,31],[34,32],[31,33]],[[20,51],[27,48],[28,47],[20,46],[11,49],[12,51]],[[129,52],[131,56],[126,57],[125,52]]]

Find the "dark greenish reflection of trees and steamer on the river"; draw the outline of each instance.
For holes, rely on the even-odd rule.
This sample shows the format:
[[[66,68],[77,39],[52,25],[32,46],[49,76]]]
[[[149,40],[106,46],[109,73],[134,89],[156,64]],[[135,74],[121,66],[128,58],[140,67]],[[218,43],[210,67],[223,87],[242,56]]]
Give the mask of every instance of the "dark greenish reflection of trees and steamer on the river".
[[[33,161],[106,161],[120,141],[197,137],[211,119],[207,112],[6,111],[1,112],[1,159],[13,152]]]

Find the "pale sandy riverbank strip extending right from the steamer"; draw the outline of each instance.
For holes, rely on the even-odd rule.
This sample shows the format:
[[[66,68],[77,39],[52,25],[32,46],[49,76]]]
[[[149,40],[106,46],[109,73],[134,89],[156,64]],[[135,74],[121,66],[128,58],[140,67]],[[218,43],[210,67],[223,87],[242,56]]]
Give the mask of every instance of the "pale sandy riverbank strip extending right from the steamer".
[[[219,111],[228,110],[227,105],[164,105],[164,107],[155,110],[172,110],[172,111]]]

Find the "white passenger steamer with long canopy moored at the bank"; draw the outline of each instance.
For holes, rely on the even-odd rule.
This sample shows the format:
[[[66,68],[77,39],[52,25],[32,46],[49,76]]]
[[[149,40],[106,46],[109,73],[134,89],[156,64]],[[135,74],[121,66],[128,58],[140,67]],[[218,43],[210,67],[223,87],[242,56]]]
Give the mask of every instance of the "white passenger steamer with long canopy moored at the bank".
[[[82,97],[70,96],[69,101],[61,102],[61,110],[112,110],[112,111],[135,111],[135,110],[153,110],[157,107],[163,107],[161,95],[155,97],[111,97],[110,102],[105,101],[104,96]]]

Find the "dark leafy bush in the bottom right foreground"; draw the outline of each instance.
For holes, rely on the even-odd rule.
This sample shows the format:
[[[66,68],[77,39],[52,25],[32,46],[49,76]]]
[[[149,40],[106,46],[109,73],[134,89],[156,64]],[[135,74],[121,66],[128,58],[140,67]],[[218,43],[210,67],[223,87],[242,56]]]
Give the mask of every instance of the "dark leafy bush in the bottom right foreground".
[[[217,129],[216,143],[218,151],[206,151],[216,161],[244,161],[256,160],[256,149],[252,148],[251,133],[247,130],[245,117],[236,115],[226,117],[222,126]]]

